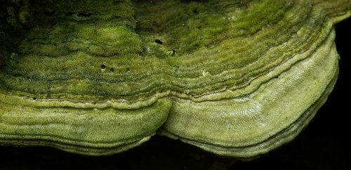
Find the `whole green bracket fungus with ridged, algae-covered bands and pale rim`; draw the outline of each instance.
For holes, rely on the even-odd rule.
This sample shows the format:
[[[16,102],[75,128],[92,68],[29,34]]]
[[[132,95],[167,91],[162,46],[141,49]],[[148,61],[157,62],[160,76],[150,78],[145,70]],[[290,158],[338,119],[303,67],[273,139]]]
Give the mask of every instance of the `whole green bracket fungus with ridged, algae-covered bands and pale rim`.
[[[351,15],[350,0],[45,3],[1,59],[0,144],[83,155],[155,133],[232,157],[288,143],[333,89]]]

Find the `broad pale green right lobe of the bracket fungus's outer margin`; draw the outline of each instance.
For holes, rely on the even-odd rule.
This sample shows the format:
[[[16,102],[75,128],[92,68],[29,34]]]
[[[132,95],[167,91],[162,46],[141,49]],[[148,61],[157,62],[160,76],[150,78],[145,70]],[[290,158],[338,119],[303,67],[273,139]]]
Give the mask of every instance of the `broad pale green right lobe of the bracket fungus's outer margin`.
[[[256,102],[254,98],[251,98],[253,101],[250,101],[253,104],[260,103],[261,106],[254,107],[255,105],[253,105],[252,108],[243,107],[238,109],[236,108],[237,105],[230,107],[225,106],[225,104],[208,102],[210,106],[207,107],[207,110],[204,110],[203,107],[197,106],[200,105],[199,103],[175,100],[172,110],[194,105],[191,108],[196,113],[190,115],[190,111],[183,109],[182,112],[179,112],[179,109],[176,109],[178,110],[177,114],[172,115],[175,113],[171,110],[166,124],[162,126],[158,134],[173,139],[179,138],[185,143],[196,145],[209,152],[232,157],[255,157],[277,148],[279,145],[288,143],[310,122],[319,107],[325,103],[336,83],[338,53],[336,53],[333,38],[334,30],[329,35],[329,40],[326,40],[311,58],[302,60],[291,67],[291,70],[283,72],[279,79],[285,79],[286,82],[268,82],[263,84],[253,95],[261,96],[260,98],[275,98],[275,100],[278,100],[275,105]],[[295,82],[289,82],[289,77],[294,77],[295,74],[305,74],[305,77],[302,76],[303,78],[290,80]],[[316,78],[320,81],[315,81]],[[274,91],[279,89],[279,84],[295,84],[286,89],[289,92],[281,91],[282,96],[294,96],[293,93],[303,94],[300,97],[296,95],[296,98],[289,99],[288,97],[288,100],[286,100],[286,97],[285,99],[284,97],[278,99],[270,92],[263,92],[271,91],[275,93]],[[309,84],[308,88],[306,88],[306,84]],[[280,103],[282,101],[284,102]],[[232,102],[235,103],[234,100]],[[202,105],[206,105],[206,103]],[[228,108],[223,111],[223,117],[213,114],[225,107]],[[289,112],[286,112],[284,107]],[[210,115],[212,115],[212,118]],[[261,115],[267,117],[263,119]],[[287,121],[282,124],[283,121],[279,117],[286,118]],[[208,120],[206,121],[206,119]],[[251,121],[248,122],[247,119]],[[208,122],[208,124],[200,126],[199,122]],[[237,125],[237,122],[242,122],[242,124]],[[275,126],[271,126],[272,124],[275,124]]]

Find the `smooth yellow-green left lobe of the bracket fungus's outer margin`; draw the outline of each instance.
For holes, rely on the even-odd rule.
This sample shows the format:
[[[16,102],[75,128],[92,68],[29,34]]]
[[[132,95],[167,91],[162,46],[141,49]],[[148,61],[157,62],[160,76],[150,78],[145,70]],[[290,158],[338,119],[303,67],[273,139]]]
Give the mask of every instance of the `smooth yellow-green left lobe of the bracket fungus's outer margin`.
[[[0,107],[7,110],[0,115],[2,144],[48,145],[84,155],[110,155],[149,139],[166,121],[171,101],[162,98],[138,110],[36,108],[6,103]]]

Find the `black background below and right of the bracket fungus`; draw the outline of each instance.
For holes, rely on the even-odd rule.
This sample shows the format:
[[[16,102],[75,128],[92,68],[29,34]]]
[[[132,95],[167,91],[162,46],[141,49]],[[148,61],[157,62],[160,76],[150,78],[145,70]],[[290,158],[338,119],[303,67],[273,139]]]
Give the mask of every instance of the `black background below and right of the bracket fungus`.
[[[1,0],[0,0],[1,1]],[[325,105],[291,143],[250,162],[154,136],[120,154],[89,157],[54,148],[0,146],[0,169],[351,169],[351,18],[336,26],[340,75]]]

